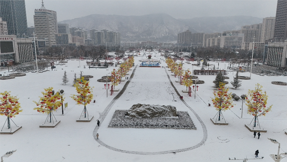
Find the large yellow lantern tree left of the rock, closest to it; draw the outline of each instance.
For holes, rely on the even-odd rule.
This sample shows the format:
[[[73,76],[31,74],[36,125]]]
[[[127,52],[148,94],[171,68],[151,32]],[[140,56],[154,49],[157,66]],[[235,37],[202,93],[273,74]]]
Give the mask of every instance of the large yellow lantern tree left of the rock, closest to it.
[[[90,87],[89,83],[90,82],[86,81],[84,77],[77,78],[77,82],[74,84],[74,87],[76,87],[78,94],[71,94],[71,98],[77,102],[77,105],[84,105],[84,110],[82,111],[81,116],[84,116],[85,118],[88,117],[88,120],[89,113],[87,112],[86,106],[93,99],[93,87]],[[81,119],[81,116],[79,119]]]

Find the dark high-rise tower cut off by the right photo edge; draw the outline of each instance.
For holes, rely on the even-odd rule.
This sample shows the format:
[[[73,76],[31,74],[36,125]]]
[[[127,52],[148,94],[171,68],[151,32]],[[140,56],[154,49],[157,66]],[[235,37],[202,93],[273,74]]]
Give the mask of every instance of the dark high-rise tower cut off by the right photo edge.
[[[287,1],[278,0],[274,27],[274,38],[275,41],[284,42],[287,38]]]

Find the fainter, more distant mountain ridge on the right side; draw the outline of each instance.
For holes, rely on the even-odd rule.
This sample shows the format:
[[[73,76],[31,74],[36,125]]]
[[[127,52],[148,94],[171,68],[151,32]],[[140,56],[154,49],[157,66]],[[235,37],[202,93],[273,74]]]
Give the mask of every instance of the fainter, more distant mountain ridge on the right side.
[[[241,26],[259,24],[263,19],[252,16],[194,17],[178,19],[189,27],[203,33],[216,33],[225,30],[240,30]]]

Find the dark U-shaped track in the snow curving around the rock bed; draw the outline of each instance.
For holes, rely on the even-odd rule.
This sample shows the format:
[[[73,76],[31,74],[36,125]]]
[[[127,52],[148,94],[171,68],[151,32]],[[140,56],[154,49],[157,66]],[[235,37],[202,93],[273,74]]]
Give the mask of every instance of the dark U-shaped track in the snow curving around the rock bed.
[[[111,110],[112,106],[115,104],[115,102],[118,100],[119,97],[121,97],[121,95],[125,92],[126,88],[128,87],[128,84],[130,83],[131,79],[134,77],[134,72],[137,68],[137,65],[136,67],[134,68],[133,70],[133,73],[131,74],[131,77],[130,79],[128,80],[128,82],[124,85],[123,89],[120,91],[120,93],[118,93],[115,98],[109,103],[109,105],[106,107],[106,109],[103,111],[103,113],[101,113],[100,117],[99,117],[99,120],[103,121],[107,114],[109,113],[109,111]],[[165,68],[165,71],[166,71],[166,68]],[[169,78],[169,75],[166,71],[166,74]],[[170,80],[169,78],[169,81],[170,81],[170,84],[172,85],[172,87],[175,89],[175,92],[178,94],[178,96],[181,96],[177,89],[175,88],[175,86],[173,85],[172,81]],[[200,141],[199,144],[195,145],[195,146],[192,146],[192,147],[189,147],[189,148],[183,148],[183,149],[177,149],[177,150],[170,150],[170,151],[159,151],[159,152],[140,152],[140,151],[127,151],[127,150],[121,150],[121,149],[117,149],[117,148],[114,148],[114,147],[111,147],[107,144],[105,144],[103,141],[101,141],[100,139],[97,139],[96,137],[96,134],[98,132],[98,129],[99,127],[96,126],[96,128],[94,129],[93,131],[93,136],[94,136],[94,139],[102,146],[110,149],[110,150],[113,150],[113,151],[118,151],[118,152],[122,152],[122,153],[128,153],[128,154],[140,154],[140,155],[156,155],[156,154],[169,154],[169,153],[175,153],[175,152],[182,152],[182,151],[189,151],[189,150],[193,150],[195,148],[199,148],[200,146],[202,146],[205,141],[207,140],[207,129],[206,129],[206,126],[204,125],[203,121],[200,119],[200,117],[197,115],[197,113],[184,101],[184,100],[181,100],[185,106],[187,106],[191,111],[192,113],[194,113],[194,115],[196,116],[196,118],[198,119],[198,121],[200,122],[201,126],[202,126],[202,129],[203,129],[203,139]]]

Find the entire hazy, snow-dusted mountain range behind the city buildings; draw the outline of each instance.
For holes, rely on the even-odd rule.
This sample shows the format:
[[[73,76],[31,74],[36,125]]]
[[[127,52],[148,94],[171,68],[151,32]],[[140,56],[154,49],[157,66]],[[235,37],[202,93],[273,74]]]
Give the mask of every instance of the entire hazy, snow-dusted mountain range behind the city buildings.
[[[175,19],[168,14],[148,14],[143,16],[121,16],[92,14],[58,23],[84,30],[106,29],[121,32],[122,41],[176,41],[177,34],[186,30],[192,33],[214,33],[238,30],[243,25],[261,23],[262,19],[251,16],[195,17]]]

